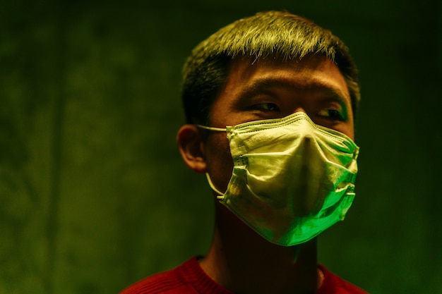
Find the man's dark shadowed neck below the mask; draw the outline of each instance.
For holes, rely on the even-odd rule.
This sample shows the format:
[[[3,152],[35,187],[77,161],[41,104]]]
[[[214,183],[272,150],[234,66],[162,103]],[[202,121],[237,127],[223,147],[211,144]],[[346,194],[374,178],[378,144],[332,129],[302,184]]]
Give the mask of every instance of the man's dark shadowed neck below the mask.
[[[284,247],[269,243],[217,204],[213,243],[203,270],[234,293],[314,293],[316,240]]]

